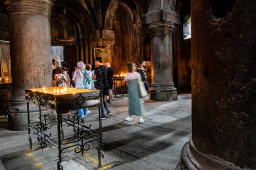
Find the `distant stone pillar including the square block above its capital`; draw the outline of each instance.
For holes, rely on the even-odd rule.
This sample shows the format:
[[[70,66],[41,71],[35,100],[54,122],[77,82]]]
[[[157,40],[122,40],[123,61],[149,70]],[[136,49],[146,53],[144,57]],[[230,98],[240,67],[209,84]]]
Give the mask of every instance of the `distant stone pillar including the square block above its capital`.
[[[177,100],[177,89],[173,83],[172,32],[179,24],[175,13],[175,1],[148,1],[148,13],[143,15],[143,24],[149,24],[151,36],[152,88],[150,99],[157,101]]]

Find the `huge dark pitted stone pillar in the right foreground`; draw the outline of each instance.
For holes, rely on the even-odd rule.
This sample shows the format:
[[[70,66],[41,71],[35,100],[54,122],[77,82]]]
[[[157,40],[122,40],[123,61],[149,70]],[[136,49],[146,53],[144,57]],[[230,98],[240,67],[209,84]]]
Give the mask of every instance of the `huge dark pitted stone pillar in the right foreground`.
[[[191,1],[192,137],[182,169],[256,169],[256,1]]]

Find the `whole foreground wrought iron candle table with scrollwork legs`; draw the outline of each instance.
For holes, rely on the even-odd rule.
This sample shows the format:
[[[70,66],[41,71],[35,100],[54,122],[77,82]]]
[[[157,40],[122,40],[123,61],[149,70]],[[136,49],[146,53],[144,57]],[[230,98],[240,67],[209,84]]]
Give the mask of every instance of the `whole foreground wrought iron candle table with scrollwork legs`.
[[[101,158],[104,157],[102,149],[102,122],[100,106],[102,105],[102,93],[98,90],[77,89],[70,87],[47,87],[39,89],[25,89],[25,96],[28,109],[28,139],[30,149],[32,149],[32,138],[30,132],[37,136],[41,148],[57,146],[59,151],[59,161],[57,169],[63,169],[61,165],[61,154],[67,148],[75,147],[75,153],[84,153],[90,148],[90,142],[98,141],[98,166],[101,167]],[[36,121],[30,120],[29,103],[35,103],[39,106],[40,117]],[[69,110],[79,108],[90,108],[98,106],[99,112],[99,130],[93,130],[91,125],[86,125],[78,113],[73,116],[63,116]],[[57,119],[51,119],[51,116],[42,115],[41,107],[54,110],[57,113]],[[57,122],[57,137],[55,141],[51,133],[47,134],[47,129],[52,128],[53,122]],[[63,122],[73,128],[73,136],[64,138]]]

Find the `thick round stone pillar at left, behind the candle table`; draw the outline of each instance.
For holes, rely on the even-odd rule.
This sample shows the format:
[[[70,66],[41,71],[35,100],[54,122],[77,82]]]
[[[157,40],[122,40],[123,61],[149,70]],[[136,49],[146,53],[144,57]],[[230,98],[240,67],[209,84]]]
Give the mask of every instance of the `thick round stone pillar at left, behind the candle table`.
[[[24,89],[51,85],[52,2],[9,0],[4,3],[9,17],[12,76],[9,128],[27,130]],[[38,112],[38,107],[32,106],[30,112]]]

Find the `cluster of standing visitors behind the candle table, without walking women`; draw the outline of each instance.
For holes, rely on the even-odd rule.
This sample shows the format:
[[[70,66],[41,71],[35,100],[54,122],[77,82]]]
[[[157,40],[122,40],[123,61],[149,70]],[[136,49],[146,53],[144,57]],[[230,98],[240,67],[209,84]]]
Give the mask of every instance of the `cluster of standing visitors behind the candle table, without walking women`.
[[[75,87],[80,89],[99,89],[103,94],[103,105],[100,108],[102,114],[102,120],[106,119],[106,116],[111,115],[108,108],[108,103],[112,103],[112,89],[113,89],[113,74],[114,71],[106,62],[106,66],[102,65],[102,57],[97,56],[95,58],[96,68],[92,71],[92,65],[84,64],[83,61],[77,62],[75,71],[72,73],[72,81],[70,82],[67,74],[67,68],[56,66],[56,60],[52,60],[53,64],[53,87]],[[70,83],[69,83],[70,82]],[[108,103],[106,102],[106,96],[109,95]],[[104,112],[106,110],[106,114]],[[78,110],[79,116],[86,117],[90,111],[88,108]]]

